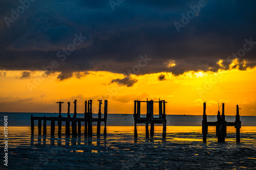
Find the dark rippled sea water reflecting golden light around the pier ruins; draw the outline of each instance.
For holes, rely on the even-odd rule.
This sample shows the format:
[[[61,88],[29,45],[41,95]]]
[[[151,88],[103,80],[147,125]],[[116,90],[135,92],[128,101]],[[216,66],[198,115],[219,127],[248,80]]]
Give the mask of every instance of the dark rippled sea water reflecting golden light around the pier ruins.
[[[52,115],[33,113],[33,116],[48,114]],[[31,113],[1,113],[0,116],[4,115],[8,115],[8,166],[1,161],[0,169],[256,168],[256,125],[253,116],[241,116],[241,143],[237,144],[236,129],[233,127],[227,127],[225,143],[217,143],[215,127],[209,127],[207,143],[203,143],[202,116],[167,115],[167,125],[176,126],[167,126],[166,139],[161,137],[161,126],[155,126],[155,136],[150,139],[145,139],[145,127],[139,126],[139,136],[135,139],[134,127],[130,125],[133,125],[133,115],[108,114],[106,137],[97,137],[94,126],[93,137],[84,137],[82,133],[77,138],[65,136],[65,125],[61,138],[57,137],[58,127],[55,128],[55,137],[50,137],[50,126],[47,127],[46,137],[38,137],[35,127],[35,135],[31,138]],[[216,116],[208,116],[209,121],[215,119]],[[226,119],[234,121],[233,116],[226,116]],[[3,122],[0,134],[4,160]]]

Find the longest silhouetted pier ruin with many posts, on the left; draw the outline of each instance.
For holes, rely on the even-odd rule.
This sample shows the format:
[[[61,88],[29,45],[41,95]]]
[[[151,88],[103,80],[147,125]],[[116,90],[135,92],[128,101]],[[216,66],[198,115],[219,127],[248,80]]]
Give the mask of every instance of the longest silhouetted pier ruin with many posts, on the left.
[[[70,136],[70,122],[72,127],[72,136],[76,137],[81,136],[81,122],[84,122],[84,136],[92,136],[93,135],[93,129],[92,124],[93,122],[97,122],[97,135],[100,135],[100,124],[101,122],[104,122],[104,135],[106,135],[106,118],[108,114],[108,101],[104,101],[104,118],[101,118],[101,105],[102,100],[98,100],[99,102],[99,112],[98,117],[94,118],[92,115],[92,100],[85,101],[84,102],[84,117],[77,117],[76,112],[76,101],[74,101],[74,115],[73,117],[70,116],[70,102],[68,102],[68,116],[62,117],[61,116],[61,104],[64,102],[57,102],[59,104],[59,115],[57,117],[33,117],[31,115],[31,135],[34,136],[34,121],[38,121],[38,136],[41,136],[41,122],[43,121],[43,135],[47,134],[47,121],[51,121],[51,136],[54,136],[55,131],[55,122],[58,124],[58,136],[61,135],[61,126],[62,122],[66,123],[66,136]]]

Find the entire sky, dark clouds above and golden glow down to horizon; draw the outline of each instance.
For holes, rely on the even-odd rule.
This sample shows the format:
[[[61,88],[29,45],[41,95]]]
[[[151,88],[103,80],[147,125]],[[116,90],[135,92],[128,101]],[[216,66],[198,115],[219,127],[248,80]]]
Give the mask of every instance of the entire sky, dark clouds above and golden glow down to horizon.
[[[256,112],[255,1],[0,2],[0,112],[165,100],[167,114]],[[144,106],[145,108],[145,106]],[[157,113],[157,105],[154,106]],[[71,105],[71,112],[73,103]],[[145,110],[143,110],[145,112]]]

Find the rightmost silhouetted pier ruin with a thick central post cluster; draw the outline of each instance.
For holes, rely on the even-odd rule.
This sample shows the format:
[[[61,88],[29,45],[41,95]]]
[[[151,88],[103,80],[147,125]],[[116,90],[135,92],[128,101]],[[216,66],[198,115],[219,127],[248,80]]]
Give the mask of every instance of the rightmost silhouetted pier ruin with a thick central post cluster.
[[[227,126],[234,126],[237,129],[237,143],[240,142],[240,128],[241,121],[239,115],[239,107],[237,105],[237,115],[235,122],[226,122],[225,114],[224,114],[224,103],[222,104],[222,114],[218,110],[217,122],[207,122],[207,115],[205,113],[206,110],[206,102],[204,102],[204,113],[203,113],[203,121],[202,121],[202,134],[203,134],[203,142],[206,142],[206,136],[208,133],[208,126],[216,126],[216,136],[218,137],[218,142],[225,142],[225,137],[227,137]]]

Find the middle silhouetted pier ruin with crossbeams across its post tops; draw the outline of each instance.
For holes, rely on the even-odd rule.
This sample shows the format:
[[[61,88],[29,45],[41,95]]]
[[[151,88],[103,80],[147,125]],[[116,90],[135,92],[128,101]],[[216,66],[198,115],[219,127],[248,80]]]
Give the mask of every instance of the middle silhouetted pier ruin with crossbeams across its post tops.
[[[140,117],[140,104],[146,102],[146,117]],[[154,103],[159,103],[159,117],[154,117]],[[150,136],[154,136],[154,125],[163,124],[163,138],[166,137],[165,101],[134,101],[134,137],[138,137],[137,124],[145,124],[146,138],[149,138],[148,124],[151,125]]]

